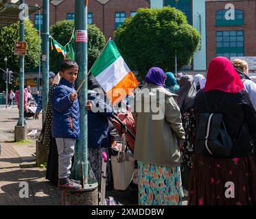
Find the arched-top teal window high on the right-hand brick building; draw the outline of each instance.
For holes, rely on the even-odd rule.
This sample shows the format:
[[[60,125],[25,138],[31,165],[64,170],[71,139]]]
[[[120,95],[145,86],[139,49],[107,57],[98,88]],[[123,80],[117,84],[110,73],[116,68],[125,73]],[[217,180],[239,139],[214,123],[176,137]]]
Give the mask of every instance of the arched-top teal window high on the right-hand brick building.
[[[216,26],[244,25],[244,12],[242,10],[235,9],[234,20],[226,20],[225,14],[227,11],[227,9],[224,9],[216,12]]]

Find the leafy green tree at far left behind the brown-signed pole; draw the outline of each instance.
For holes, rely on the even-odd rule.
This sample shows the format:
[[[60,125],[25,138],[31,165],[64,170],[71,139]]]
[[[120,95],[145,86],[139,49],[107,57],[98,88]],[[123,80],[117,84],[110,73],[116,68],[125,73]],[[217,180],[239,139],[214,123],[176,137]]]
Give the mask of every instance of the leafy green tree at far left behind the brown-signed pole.
[[[0,68],[5,69],[4,57],[8,57],[8,68],[14,72],[14,79],[19,78],[19,55],[14,55],[14,42],[19,41],[19,22],[0,29]],[[25,20],[25,42],[27,42],[27,55],[25,55],[25,72],[29,68],[38,66],[39,38],[33,23]],[[2,73],[0,73],[0,91],[5,90]],[[14,83],[12,83],[14,86]],[[10,88],[12,88],[10,86]]]

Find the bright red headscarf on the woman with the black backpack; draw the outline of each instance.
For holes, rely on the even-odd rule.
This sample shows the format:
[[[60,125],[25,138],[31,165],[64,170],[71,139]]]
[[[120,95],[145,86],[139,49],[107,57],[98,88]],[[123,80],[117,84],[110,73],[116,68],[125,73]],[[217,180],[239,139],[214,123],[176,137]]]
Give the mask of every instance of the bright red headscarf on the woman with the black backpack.
[[[238,93],[244,90],[244,84],[228,58],[215,57],[209,64],[204,90]]]

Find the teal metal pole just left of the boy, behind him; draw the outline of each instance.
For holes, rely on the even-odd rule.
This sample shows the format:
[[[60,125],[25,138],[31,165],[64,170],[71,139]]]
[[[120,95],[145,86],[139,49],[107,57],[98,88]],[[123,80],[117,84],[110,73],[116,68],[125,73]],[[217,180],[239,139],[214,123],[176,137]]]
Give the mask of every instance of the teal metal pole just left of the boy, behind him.
[[[40,81],[40,79],[39,79]],[[43,120],[49,92],[49,0],[43,0]]]

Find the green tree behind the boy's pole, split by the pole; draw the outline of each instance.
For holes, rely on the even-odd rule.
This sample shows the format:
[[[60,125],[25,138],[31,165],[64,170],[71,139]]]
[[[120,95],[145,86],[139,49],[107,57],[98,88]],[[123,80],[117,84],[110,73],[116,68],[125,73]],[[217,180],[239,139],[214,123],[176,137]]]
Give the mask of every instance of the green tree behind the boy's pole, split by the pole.
[[[74,21],[59,21],[50,27],[51,36],[62,46],[65,46],[71,39],[71,34],[74,28]],[[88,25],[88,69],[91,68],[97,57],[100,55],[106,40],[102,31],[95,25]],[[60,62],[63,60],[63,55],[57,53],[56,49],[50,52],[50,70],[58,73]]]

